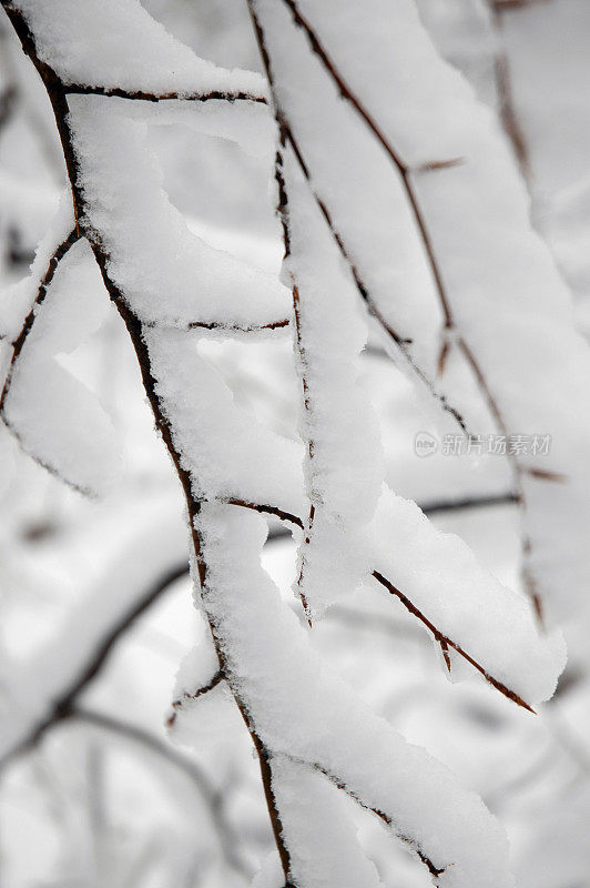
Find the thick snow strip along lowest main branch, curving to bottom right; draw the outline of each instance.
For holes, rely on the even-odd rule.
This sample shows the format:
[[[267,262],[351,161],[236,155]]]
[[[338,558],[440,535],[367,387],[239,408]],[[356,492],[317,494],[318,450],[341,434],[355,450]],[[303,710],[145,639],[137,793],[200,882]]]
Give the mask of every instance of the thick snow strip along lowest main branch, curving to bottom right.
[[[309,648],[305,630],[261,568],[264,521],[212,504],[203,505],[197,526],[207,563],[203,606],[223,652],[227,682],[271,756],[271,771],[279,755],[329,775],[359,804],[387,818],[441,887],[513,885],[506,839],[481,801],[365,709]],[[306,885],[298,881],[288,851],[279,790],[274,801],[287,848],[287,878]]]

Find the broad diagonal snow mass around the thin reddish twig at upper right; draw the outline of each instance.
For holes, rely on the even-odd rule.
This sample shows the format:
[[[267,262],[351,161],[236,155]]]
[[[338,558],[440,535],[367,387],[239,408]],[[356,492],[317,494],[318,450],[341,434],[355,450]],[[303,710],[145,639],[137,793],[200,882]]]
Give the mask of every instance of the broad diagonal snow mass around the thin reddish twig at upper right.
[[[452,355],[498,432],[550,436],[550,453],[509,458],[529,593],[539,612],[543,598],[569,610],[590,577],[590,354],[498,121],[437,56],[411,3],[250,7],[283,139],[419,374],[477,433],[447,373]]]

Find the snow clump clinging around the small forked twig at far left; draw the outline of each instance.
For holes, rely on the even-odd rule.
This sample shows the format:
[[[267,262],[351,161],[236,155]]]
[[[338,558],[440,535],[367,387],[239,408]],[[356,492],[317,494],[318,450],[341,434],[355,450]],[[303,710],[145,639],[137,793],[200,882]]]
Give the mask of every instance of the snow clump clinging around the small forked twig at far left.
[[[55,248],[55,234],[59,243],[69,232],[70,213],[60,211],[54,224],[51,238],[38,251],[30,276],[16,286],[13,316],[10,320],[8,314],[7,319],[13,335],[34,302]],[[99,398],[59,363],[59,356],[72,352],[101,325],[106,305],[90,248],[79,242],[58,265],[45,299],[35,309],[3,408],[27,453],[93,496],[106,493],[120,476],[120,442]]]

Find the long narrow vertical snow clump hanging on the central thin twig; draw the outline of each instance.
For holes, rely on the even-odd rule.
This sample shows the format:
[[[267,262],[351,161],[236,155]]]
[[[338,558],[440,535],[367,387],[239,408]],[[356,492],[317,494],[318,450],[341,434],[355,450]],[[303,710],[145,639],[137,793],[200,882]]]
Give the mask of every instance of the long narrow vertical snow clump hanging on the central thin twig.
[[[297,172],[285,158],[289,255],[302,380],[305,480],[313,512],[299,546],[297,591],[318,616],[369,569],[363,533],[383,480],[377,417],[359,381],[367,329],[336,244]]]

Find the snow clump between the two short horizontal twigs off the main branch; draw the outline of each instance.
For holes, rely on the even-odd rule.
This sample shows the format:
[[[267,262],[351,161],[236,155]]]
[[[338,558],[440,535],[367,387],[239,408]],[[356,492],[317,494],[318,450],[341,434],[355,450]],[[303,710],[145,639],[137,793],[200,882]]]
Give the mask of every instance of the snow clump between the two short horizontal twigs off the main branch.
[[[144,123],[100,97],[71,97],[70,108],[87,224],[139,317],[256,327],[291,316],[288,292],[276,278],[191,234],[162,190]]]

